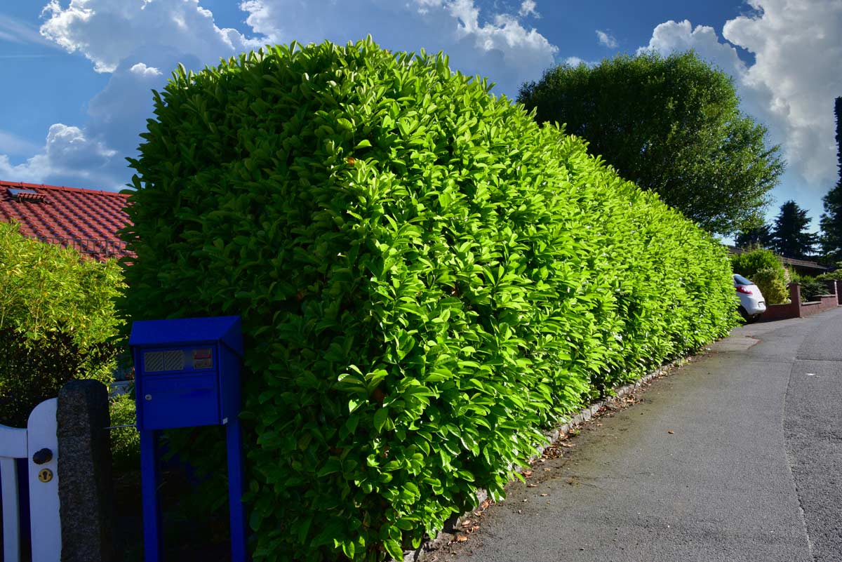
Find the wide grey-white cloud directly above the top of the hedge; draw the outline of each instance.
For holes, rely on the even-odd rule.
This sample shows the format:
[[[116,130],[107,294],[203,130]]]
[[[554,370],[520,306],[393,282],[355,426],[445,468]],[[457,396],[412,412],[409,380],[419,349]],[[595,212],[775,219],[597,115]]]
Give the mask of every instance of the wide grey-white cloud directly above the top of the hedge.
[[[522,82],[552,66],[558,50],[535,28],[526,26],[520,12],[481,10],[474,0],[329,3],[330,7],[292,0],[247,0],[240,8],[248,13],[246,23],[255,34],[282,43],[331,40],[341,45],[371,34],[392,50],[444,50],[452,68],[487,76],[497,84],[495,92],[509,96],[517,93]]]

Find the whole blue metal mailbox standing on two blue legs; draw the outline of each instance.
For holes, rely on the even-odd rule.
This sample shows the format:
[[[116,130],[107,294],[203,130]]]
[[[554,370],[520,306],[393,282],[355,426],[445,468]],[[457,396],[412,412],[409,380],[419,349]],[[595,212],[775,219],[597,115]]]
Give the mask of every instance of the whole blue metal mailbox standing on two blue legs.
[[[136,321],[129,338],[135,361],[137,430],[141,435],[143,543],[146,562],[161,559],[157,438],[175,427],[226,427],[233,562],[245,562],[240,433],[239,316]]]

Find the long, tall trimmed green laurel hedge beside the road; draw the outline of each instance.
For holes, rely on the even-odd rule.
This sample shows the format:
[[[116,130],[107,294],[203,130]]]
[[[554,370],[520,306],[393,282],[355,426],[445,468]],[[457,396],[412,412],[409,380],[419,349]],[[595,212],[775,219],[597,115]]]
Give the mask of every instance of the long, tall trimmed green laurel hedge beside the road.
[[[255,559],[399,558],[736,320],[724,247],[445,56],[180,69],[142,136],[122,307],[242,315]]]

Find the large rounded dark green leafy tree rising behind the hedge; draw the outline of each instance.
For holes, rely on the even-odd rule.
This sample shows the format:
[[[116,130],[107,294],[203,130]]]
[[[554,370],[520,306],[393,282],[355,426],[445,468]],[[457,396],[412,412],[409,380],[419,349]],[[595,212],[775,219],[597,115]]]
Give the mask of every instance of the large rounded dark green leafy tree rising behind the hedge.
[[[784,168],[766,128],[739,111],[731,78],[693,51],[562,64],[525,83],[518,101],[540,123],[566,124],[621,176],[707,231],[758,221]]]

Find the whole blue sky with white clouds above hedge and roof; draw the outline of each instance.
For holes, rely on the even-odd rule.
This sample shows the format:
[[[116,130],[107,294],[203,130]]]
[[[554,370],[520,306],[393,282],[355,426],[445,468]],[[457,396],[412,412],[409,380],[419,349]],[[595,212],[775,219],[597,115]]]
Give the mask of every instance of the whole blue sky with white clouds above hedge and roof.
[[[152,88],[274,42],[371,34],[392,50],[445,50],[514,97],[563,61],[694,48],[734,77],[743,111],[788,162],[775,204],[809,209],[836,178],[839,0],[5,0],[0,5],[0,179],[120,189]]]

